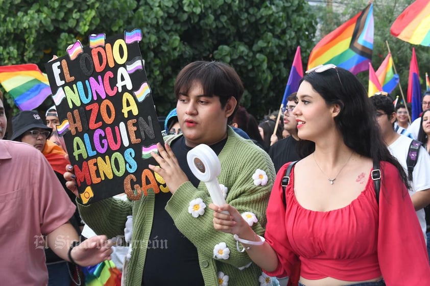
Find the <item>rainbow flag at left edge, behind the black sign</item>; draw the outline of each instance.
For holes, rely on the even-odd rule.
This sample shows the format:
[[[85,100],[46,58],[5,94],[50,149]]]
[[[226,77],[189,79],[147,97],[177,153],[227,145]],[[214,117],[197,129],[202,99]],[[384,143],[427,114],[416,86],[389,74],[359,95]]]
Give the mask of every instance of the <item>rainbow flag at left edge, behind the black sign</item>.
[[[51,94],[48,79],[36,64],[0,66],[0,83],[20,110],[33,110]]]

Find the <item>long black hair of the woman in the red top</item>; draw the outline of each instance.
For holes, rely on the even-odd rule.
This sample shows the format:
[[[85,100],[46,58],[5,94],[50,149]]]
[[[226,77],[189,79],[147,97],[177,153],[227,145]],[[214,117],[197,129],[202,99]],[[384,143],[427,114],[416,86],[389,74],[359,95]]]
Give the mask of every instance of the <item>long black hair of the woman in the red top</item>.
[[[335,123],[345,145],[367,158],[393,164],[409,189],[408,176],[384,143],[376,122],[375,109],[357,77],[338,67],[307,73],[302,81],[308,82],[324,98],[327,105],[338,104],[341,107],[339,115],[335,117]],[[304,158],[315,151],[315,143],[300,140],[298,151],[301,158]]]

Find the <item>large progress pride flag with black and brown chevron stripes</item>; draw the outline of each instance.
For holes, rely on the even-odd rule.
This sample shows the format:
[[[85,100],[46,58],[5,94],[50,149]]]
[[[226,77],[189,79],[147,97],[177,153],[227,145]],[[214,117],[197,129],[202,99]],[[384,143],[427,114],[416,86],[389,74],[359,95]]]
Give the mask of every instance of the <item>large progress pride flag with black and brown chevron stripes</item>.
[[[373,4],[369,4],[313,48],[307,69],[330,63],[357,74],[369,68],[372,50]]]

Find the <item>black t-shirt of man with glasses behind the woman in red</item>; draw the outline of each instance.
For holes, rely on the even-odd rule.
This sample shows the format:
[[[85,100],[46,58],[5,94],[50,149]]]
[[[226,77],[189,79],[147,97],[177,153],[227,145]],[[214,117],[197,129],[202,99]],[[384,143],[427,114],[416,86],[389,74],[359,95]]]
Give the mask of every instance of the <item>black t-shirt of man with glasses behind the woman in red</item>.
[[[289,136],[270,146],[269,156],[275,166],[276,173],[284,164],[300,160],[296,145],[297,141]]]

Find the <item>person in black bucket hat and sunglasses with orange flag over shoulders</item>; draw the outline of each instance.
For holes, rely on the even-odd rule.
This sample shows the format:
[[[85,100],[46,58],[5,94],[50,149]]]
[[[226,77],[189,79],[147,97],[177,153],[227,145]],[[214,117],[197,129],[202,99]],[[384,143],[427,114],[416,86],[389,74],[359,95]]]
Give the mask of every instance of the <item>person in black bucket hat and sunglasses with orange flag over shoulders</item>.
[[[12,117],[12,137],[11,140],[27,143],[44,155],[45,159],[49,162],[52,169],[54,170],[57,180],[60,181],[64,191],[69,196],[69,199],[75,203],[75,196],[73,193],[67,191],[66,180],[63,177],[64,170],[67,164],[70,164],[68,160],[64,158],[65,151],[55,144],[54,142],[47,140],[52,133],[52,128],[45,125],[42,118],[37,111],[21,111]],[[52,184],[57,182],[51,182]],[[69,222],[75,227],[75,230],[80,235],[81,218],[79,212],[75,206],[75,213],[70,218]],[[51,285],[69,285],[71,278],[69,277],[69,270],[67,262],[56,255],[51,248],[45,249],[46,256],[46,267],[49,273],[49,283]],[[76,268],[74,269],[76,270]]]

